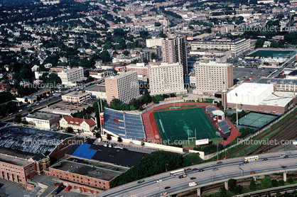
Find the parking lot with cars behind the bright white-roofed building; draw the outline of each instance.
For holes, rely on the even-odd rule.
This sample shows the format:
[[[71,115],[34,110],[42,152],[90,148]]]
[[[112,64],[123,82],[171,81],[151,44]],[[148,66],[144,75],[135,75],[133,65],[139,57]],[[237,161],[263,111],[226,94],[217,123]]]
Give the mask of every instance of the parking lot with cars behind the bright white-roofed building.
[[[238,81],[258,81],[260,77],[267,77],[274,69],[258,69],[254,67],[234,67],[234,84]],[[248,80],[247,80],[248,79]]]

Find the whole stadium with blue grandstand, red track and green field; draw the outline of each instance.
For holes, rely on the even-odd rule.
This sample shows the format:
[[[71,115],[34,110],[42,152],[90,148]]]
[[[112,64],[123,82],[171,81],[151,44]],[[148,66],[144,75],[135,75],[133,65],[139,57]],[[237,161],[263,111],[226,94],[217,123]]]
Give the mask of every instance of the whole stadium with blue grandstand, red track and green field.
[[[129,113],[104,108],[104,131],[116,137],[171,143],[176,140],[214,139],[217,133],[227,145],[239,136],[216,106],[204,103],[176,103],[157,106],[145,113]]]

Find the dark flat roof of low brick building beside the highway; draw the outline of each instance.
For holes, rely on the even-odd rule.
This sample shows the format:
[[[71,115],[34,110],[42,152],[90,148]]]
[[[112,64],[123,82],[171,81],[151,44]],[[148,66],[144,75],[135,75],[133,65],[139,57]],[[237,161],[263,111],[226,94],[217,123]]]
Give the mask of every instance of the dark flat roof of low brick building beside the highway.
[[[64,159],[61,162],[58,162],[58,164],[54,164],[50,168],[69,171],[74,174],[80,174],[82,176],[88,176],[104,181],[111,181],[115,177],[119,176],[119,174],[129,169],[126,167],[103,164],[90,159],[82,159],[77,157],[69,157],[68,159]]]

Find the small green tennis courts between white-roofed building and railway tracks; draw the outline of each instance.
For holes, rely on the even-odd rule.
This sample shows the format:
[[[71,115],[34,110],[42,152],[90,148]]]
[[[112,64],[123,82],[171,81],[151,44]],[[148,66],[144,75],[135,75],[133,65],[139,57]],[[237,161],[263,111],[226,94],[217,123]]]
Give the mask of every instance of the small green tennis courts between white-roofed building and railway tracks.
[[[277,118],[277,116],[271,114],[251,112],[243,116],[242,118],[239,118],[238,125],[246,125],[252,128],[260,128],[261,126],[266,125],[275,118]]]

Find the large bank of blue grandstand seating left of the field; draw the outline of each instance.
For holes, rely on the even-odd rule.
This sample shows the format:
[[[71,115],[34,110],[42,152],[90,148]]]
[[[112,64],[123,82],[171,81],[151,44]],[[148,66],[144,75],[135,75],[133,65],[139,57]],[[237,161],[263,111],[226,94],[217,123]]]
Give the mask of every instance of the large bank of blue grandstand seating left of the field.
[[[104,108],[104,130],[132,140],[146,138],[144,123],[140,114]]]

